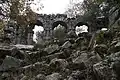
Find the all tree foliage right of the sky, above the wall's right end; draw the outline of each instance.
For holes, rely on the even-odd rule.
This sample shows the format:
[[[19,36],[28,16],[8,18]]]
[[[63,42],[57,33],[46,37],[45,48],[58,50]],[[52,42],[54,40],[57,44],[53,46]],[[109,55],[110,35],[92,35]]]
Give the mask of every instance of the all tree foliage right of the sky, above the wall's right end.
[[[71,2],[66,14],[71,16],[83,15],[84,21],[91,21],[94,23],[96,17],[108,17],[109,10],[120,5],[120,0],[84,0],[83,3]]]

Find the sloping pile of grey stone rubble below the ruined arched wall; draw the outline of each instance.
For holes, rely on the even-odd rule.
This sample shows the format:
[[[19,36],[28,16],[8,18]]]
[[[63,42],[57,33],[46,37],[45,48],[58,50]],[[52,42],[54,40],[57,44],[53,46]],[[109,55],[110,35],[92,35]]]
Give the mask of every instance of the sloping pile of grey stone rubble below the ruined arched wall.
[[[94,36],[81,33],[72,42],[41,49],[2,45],[0,80],[119,80],[119,33],[119,27],[97,31]]]

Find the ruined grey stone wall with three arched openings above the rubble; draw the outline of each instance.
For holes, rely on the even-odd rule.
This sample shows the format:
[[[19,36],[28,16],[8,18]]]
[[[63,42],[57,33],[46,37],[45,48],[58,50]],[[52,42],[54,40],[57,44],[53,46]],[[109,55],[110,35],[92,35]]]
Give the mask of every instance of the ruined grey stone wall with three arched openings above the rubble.
[[[103,23],[101,23],[103,22]],[[101,26],[105,24],[105,22],[101,19],[93,22],[84,21],[81,16],[76,16],[76,18],[68,18],[65,14],[57,14],[57,15],[46,15],[46,14],[38,14],[37,21],[35,24],[30,24],[28,28],[27,36],[23,33],[25,30],[19,26],[14,27],[14,44],[33,44],[33,29],[34,25],[43,26],[44,27],[44,39],[50,40],[53,38],[53,29],[58,25],[62,25],[66,28],[66,32],[71,30],[75,31],[76,26],[86,25],[88,26],[88,32],[95,32],[98,29],[101,29],[105,26]]]

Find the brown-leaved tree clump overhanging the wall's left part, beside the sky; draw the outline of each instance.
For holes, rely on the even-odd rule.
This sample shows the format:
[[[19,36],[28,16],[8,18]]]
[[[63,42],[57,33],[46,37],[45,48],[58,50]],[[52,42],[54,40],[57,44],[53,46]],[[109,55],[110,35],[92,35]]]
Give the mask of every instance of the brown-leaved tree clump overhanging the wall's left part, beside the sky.
[[[29,3],[31,0],[11,0],[10,19],[17,21],[20,25],[29,25],[36,21],[36,13],[34,13]]]

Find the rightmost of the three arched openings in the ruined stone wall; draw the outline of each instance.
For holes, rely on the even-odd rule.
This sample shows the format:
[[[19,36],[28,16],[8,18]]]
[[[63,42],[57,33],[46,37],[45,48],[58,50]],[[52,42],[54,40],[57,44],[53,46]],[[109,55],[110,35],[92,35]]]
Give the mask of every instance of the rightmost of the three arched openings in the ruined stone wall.
[[[79,22],[75,25],[75,33],[78,35],[83,32],[89,32],[89,25],[84,22]]]

